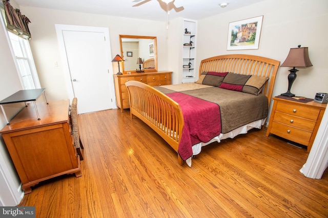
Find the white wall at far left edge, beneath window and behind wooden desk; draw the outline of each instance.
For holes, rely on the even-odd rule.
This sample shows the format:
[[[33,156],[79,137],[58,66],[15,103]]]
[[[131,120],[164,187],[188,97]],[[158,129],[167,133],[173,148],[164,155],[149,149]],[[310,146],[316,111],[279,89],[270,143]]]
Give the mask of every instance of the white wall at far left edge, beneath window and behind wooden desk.
[[[0,14],[0,100],[22,89],[10,47],[7,41],[8,33]],[[23,104],[24,105],[24,104]],[[23,107],[22,103],[5,105],[7,118],[10,120]],[[0,112],[0,129],[7,125],[6,119]],[[0,135],[0,206],[17,205],[22,198],[20,180],[11,161],[6,144]]]

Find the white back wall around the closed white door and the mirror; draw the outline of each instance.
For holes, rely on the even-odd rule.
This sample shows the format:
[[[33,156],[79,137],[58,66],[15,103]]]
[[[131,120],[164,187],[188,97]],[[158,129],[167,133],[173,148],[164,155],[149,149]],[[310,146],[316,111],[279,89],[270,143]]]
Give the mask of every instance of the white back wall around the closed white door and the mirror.
[[[109,28],[112,58],[120,54],[120,34],[156,36],[157,51],[159,51],[158,70],[167,70],[165,22],[23,6],[20,6],[20,10],[31,20],[29,25],[32,34],[31,49],[40,84],[47,89],[49,101],[69,98],[66,86],[63,85],[66,81],[59,56],[55,24]],[[58,67],[54,67],[55,62],[58,63]],[[113,71],[118,71],[116,62],[113,63]]]

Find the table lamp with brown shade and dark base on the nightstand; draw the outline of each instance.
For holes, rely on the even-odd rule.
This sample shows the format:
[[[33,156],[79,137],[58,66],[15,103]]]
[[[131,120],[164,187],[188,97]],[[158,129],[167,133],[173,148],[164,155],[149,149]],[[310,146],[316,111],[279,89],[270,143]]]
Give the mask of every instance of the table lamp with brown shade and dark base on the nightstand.
[[[297,76],[296,72],[298,71],[298,69],[295,69],[295,67],[313,66],[309,58],[308,47],[301,47],[301,45],[298,45],[298,47],[291,49],[286,60],[281,64],[281,66],[293,67],[293,69],[289,70],[290,74],[288,75],[288,91],[282,93],[281,95],[294,97],[295,94],[291,93],[291,88]]]

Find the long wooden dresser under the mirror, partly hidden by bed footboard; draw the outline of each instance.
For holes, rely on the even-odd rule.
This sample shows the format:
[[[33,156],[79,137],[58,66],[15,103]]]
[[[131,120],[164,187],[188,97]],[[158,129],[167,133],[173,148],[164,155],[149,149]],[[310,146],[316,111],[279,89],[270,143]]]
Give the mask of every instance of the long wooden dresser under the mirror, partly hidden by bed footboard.
[[[130,108],[129,93],[125,83],[131,80],[146,83],[150,86],[171,85],[172,71],[142,72],[139,74],[114,75],[117,107]]]

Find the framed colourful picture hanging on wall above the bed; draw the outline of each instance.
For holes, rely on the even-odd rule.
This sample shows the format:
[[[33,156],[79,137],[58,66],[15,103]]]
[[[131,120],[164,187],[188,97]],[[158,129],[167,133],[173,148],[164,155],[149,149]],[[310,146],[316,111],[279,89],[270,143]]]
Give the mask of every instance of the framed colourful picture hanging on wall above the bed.
[[[229,23],[227,50],[258,49],[263,16]]]

